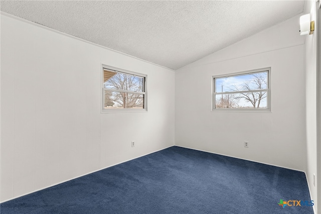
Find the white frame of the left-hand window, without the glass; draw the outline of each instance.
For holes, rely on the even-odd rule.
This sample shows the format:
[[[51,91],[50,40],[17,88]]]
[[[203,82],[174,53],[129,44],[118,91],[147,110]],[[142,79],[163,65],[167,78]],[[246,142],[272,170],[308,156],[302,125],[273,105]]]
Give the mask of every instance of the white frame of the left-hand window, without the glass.
[[[107,89],[104,88],[104,69],[107,69],[109,71],[113,71],[115,73],[123,73],[126,75],[132,75],[132,76],[139,76],[139,77],[143,77],[144,78],[144,83],[143,83],[143,91],[129,91],[129,90],[118,90],[118,89]],[[147,112],[147,75],[146,74],[141,74],[141,73],[137,73],[137,72],[133,72],[133,71],[128,71],[128,70],[124,70],[121,68],[116,68],[116,67],[112,67],[109,65],[101,65],[101,113],[128,113],[128,112]],[[105,93],[104,91],[118,91],[118,92],[128,92],[128,93],[137,93],[137,94],[144,94],[144,108],[143,109],[105,109],[104,108],[104,103],[105,103]]]

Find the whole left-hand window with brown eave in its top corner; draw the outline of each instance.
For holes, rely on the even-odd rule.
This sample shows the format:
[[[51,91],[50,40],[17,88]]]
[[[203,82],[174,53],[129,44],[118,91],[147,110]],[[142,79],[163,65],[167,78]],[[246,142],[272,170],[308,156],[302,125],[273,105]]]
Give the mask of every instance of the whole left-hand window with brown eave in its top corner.
[[[146,112],[146,75],[102,66],[102,112]]]

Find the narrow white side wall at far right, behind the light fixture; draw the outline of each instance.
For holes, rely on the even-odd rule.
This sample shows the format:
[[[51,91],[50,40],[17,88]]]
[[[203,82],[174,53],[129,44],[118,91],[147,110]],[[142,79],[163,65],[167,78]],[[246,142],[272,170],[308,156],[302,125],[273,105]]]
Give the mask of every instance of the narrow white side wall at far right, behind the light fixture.
[[[304,7],[304,14],[310,14],[311,20],[315,21],[315,26],[318,26],[316,20],[318,10],[316,10],[315,1],[306,1]],[[317,7],[318,8],[318,7]],[[320,176],[321,170],[317,169],[317,96],[318,96],[318,75],[317,75],[317,35],[318,28],[312,35],[305,36],[305,81],[306,81],[306,148],[307,148],[307,169],[306,177],[310,188],[312,200],[319,201],[317,198],[317,182],[313,185],[313,173]],[[320,167],[320,166],[319,166]],[[317,177],[316,177],[317,180]],[[316,213],[318,210],[318,203],[313,206]]]

